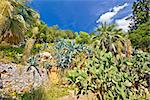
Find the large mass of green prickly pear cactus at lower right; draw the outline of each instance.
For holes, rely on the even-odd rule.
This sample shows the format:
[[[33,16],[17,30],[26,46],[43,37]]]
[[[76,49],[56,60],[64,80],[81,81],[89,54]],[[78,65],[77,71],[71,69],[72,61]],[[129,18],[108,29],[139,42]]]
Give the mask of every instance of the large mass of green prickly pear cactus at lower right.
[[[111,52],[95,50],[87,65],[69,71],[68,81],[77,95],[94,93],[99,100],[148,99],[150,54],[135,52],[132,59],[115,58]]]

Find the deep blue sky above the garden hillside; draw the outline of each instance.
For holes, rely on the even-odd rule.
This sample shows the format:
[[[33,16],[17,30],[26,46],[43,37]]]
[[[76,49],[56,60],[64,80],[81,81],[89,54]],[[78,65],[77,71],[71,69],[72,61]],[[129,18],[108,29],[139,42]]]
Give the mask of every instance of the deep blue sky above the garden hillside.
[[[111,18],[111,23],[119,22],[124,24],[122,20],[131,14],[133,1],[134,0],[32,0],[30,6],[40,13],[41,20],[48,26],[58,25],[61,29],[71,29],[77,32],[91,32],[99,24],[96,23],[96,21],[100,16],[126,3],[127,5]]]

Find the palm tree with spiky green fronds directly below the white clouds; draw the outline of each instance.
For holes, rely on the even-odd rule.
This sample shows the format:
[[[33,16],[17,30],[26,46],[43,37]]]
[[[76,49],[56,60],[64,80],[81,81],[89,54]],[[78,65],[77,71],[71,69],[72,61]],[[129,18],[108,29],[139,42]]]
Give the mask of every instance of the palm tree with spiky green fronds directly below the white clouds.
[[[123,52],[126,53],[127,43],[129,44],[129,40],[124,37],[125,34],[122,33],[121,29],[116,28],[115,24],[102,24],[97,28],[96,34],[97,36],[94,39],[94,44],[98,46],[99,49],[111,51],[114,54],[119,55]]]

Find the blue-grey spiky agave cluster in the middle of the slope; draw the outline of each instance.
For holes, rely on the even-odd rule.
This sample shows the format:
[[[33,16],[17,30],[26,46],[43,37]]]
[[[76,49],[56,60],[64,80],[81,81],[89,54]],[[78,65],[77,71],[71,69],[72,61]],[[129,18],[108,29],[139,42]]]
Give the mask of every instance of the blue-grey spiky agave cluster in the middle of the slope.
[[[87,52],[87,54],[91,53],[90,49],[85,45],[75,44],[74,41],[69,42],[64,39],[56,42],[54,49],[56,50],[55,58],[57,59],[57,65],[61,68],[69,67],[75,54],[80,52]]]

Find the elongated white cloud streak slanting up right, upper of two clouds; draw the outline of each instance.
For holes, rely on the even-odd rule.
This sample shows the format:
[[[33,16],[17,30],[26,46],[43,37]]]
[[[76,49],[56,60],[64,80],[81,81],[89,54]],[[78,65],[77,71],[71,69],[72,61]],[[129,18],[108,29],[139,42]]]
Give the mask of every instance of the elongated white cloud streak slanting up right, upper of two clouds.
[[[96,21],[96,23],[104,23],[104,22],[107,22],[107,23],[110,23],[113,19],[113,17],[122,9],[124,9],[125,7],[127,7],[128,4],[125,3],[121,6],[115,6],[112,11],[108,11],[104,14],[102,14],[99,19]]]

